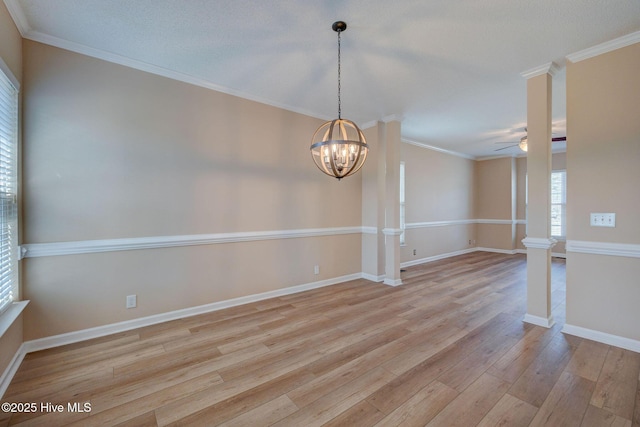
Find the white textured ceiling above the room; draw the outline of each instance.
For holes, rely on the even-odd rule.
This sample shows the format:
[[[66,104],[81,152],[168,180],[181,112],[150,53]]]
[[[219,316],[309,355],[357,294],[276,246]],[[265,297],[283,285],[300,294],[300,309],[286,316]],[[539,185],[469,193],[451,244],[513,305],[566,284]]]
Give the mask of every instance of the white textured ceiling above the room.
[[[515,155],[528,71],[637,33],[638,0],[5,0],[23,37],[472,157]],[[640,34],[640,33],[639,33]],[[637,37],[634,36],[634,40]],[[315,129],[309,130],[309,139]]]

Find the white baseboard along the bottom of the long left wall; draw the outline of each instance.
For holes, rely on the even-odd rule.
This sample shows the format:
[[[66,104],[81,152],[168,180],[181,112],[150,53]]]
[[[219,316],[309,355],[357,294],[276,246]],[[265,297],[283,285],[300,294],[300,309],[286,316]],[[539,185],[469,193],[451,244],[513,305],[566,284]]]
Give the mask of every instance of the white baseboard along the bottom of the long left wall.
[[[200,305],[196,307],[184,308],[181,310],[170,311],[167,313],[160,313],[160,314],[141,317],[133,320],[126,320],[124,322],[112,323],[109,325],[98,326],[95,328],[83,329],[80,331],[67,332],[64,334],[53,335],[45,338],[39,338],[31,341],[26,341],[23,344],[23,346],[25,347],[26,353],[45,350],[48,348],[59,347],[61,345],[73,344],[80,341],[99,338],[99,337],[103,337],[106,335],[111,335],[119,332],[125,332],[131,329],[137,329],[144,326],[155,325],[158,323],[182,319],[185,317],[197,316],[199,314],[210,313],[212,311],[218,311],[225,308],[248,304],[251,302],[262,301],[268,298],[275,298],[279,296],[295,294],[298,292],[308,291],[310,289],[316,289],[324,286],[335,285],[337,283],[347,282],[349,280],[355,280],[355,279],[361,279],[361,278],[362,278],[361,273],[349,274],[346,276],[335,277],[333,279],[321,280],[318,282],[307,283],[304,285],[291,286],[288,288],[277,289],[274,291],[263,292],[260,294],[247,295],[245,297],[233,298],[230,300],[214,302],[211,304],[205,304],[205,305]]]

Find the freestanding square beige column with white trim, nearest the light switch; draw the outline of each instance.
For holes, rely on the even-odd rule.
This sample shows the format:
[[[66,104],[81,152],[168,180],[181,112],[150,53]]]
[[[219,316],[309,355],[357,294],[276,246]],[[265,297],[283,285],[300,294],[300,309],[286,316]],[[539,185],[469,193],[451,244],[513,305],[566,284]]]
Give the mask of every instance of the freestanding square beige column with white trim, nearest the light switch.
[[[551,314],[551,85],[553,63],[522,73],[527,79],[527,314],[550,328]]]

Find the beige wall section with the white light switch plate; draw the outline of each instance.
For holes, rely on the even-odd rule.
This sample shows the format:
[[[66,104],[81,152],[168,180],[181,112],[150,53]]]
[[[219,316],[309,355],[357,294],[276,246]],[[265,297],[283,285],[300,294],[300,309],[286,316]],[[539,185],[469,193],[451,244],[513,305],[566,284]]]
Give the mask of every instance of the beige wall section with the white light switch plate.
[[[567,240],[640,244],[640,44],[567,64]],[[589,225],[615,212],[615,228]],[[640,340],[640,258],[567,253],[567,324]]]

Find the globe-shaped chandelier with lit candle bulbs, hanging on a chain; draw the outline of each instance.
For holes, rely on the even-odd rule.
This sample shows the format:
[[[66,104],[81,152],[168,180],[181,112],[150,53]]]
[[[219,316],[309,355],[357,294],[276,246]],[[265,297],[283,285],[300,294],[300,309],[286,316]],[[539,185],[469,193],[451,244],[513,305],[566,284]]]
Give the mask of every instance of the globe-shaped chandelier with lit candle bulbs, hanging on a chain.
[[[318,169],[338,178],[356,173],[367,158],[369,147],[358,126],[342,118],[340,99],[340,34],[347,29],[342,21],[331,26],[338,33],[338,118],[324,123],[311,139],[311,157]]]

